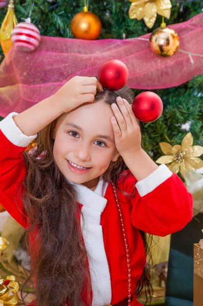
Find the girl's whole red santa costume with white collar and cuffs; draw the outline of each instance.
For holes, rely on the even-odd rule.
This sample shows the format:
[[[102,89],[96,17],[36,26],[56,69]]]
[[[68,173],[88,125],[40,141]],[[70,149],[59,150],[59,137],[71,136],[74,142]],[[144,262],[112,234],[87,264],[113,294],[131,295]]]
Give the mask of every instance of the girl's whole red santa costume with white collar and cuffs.
[[[37,135],[23,135],[12,119],[14,115],[17,113],[9,114],[0,122],[0,199],[9,214],[27,228],[28,217],[16,190],[20,190],[26,174],[22,152]],[[126,174],[129,172],[127,170]],[[133,175],[126,177],[128,179],[120,179],[117,185],[129,193],[135,185],[135,196],[126,201],[121,192],[117,194],[128,237],[134,292],[146,263],[139,230],[158,236],[181,230],[192,218],[192,195],[166,165],[159,166],[139,182]],[[74,186],[79,192],[78,202],[84,215],[81,229],[91,276],[91,305],[114,305],[128,297],[128,268],[112,185],[100,176],[94,191],[81,184]],[[135,294],[131,305],[141,305]]]

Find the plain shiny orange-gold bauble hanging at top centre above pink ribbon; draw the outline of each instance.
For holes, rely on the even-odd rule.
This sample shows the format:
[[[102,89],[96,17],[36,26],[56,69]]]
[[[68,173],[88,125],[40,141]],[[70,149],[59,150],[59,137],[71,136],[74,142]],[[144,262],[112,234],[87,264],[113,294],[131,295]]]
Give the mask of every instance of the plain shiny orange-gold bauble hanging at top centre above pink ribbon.
[[[88,6],[76,14],[70,24],[72,35],[78,39],[94,40],[102,31],[102,22],[99,17],[88,11]]]

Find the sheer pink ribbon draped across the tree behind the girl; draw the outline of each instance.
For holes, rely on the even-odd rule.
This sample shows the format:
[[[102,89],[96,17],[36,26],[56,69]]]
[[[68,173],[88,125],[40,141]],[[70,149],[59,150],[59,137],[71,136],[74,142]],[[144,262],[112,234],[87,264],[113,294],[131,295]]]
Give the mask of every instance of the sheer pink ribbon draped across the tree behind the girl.
[[[0,66],[0,116],[30,108],[74,75],[96,76],[109,59],[126,64],[127,85],[137,89],[173,87],[203,73],[203,13],[168,27],[180,37],[180,48],[170,58],[151,53],[150,34],[93,41],[42,36],[32,53],[12,47]]]

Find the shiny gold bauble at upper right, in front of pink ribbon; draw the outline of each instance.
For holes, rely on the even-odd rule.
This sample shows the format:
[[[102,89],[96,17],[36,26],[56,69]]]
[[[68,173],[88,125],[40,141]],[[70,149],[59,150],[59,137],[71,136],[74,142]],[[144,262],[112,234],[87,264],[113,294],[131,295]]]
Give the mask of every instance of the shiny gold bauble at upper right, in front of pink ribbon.
[[[160,27],[151,33],[149,46],[156,55],[172,56],[179,48],[180,40],[177,33],[169,28]]]

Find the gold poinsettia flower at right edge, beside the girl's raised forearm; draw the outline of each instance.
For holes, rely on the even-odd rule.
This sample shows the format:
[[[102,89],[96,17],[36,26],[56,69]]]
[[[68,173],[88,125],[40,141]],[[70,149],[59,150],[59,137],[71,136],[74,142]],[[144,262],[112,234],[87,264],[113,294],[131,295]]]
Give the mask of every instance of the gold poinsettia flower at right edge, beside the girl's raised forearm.
[[[193,144],[193,137],[191,133],[188,133],[182,141],[182,144],[175,144],[172,146],[167,142],[161,142],[159,145],[165,156],[160,157],[156,163],[167,164],[168,168],[177,173],[181,170],[181,174],[184,177],[184,172],[195,171],[198,168],[203,167],[203,161],[198,156],[203,154],[203,147]]]

